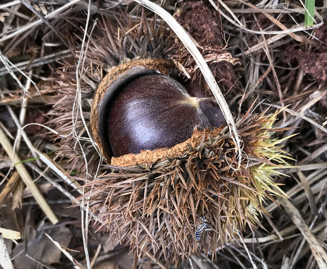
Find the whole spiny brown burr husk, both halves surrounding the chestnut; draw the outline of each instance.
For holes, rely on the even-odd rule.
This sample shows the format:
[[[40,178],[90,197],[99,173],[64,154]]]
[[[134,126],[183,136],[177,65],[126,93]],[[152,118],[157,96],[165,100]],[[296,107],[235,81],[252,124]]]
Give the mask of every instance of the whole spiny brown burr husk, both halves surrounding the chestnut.
[[[58,144],[62,156],[71,161],[71,170],[84,174],[85,158],[88,174],[97,174],[99,155],[86,128],[90,127],[92,102],[103,78],[114,67],[132,60],[168,58],[166,49],[173,42],[166,27],[156,22],[156,17],[151,23],[144,17],[134,23],[127,18],[119,24],[101,19],[90,36],[83,61],[87,68],[78,94],[78,58],[62,62],[54,79],[51,104],[56,118],[51,124],[61,135]],[[72,49],[79,51],[79,39],[72,40]],[[86,185],[88,191],[83,198],[89,201],[90,211],[98,215],[101,227],[122,243],[134,246],[138,255],[150,251],[158,258],[177,261],[180,254],[187,257],[202,250],[215,254],[217,247],[246,223],[260,225],[257,216],[266,213],[264,202],[283,195],[271,177],[277,174],[275,164],[286,166],[284,159],[289,158],[276,146],[278,140],[271,137],[273,132],[282,131],[272,128],[275,118],[276,113],[247,113],[237,120],[244,142],[240,170],[236,169],[235,146],[225,129],[196,131],[191,138],[194,141],[185,141],[171,154],[161,150],[149,160],[141,158],[149,152],[141,152],[130,156],[137,158],[132,163],[126,162],[126,156],[109,159],[112,164],[100,168],[104,176]],[[203,224],[202,217],[210,231],[204,231],[197,241],[195,232]]]

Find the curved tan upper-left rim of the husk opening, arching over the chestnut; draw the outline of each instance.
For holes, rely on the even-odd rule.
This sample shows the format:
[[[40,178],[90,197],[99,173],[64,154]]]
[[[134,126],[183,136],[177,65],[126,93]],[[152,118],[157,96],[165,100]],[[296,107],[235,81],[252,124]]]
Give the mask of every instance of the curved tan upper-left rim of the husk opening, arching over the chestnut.
[[[169,72],[173,69],[174,64],[171,61],[164,59],[139,59],[129,61],[128,63],[113,67],[110,72],[102,79],[92,104],[91,130],[94,139],[96,140],[102,154],[107,159],[109,164],[111,156],[109,156],[108,153],[104,151],[100,137],[98,135],[98,106],[110,84],[133,66],[144,66],[148,69],[155,69],[160,71],[162,74],[168,75]]]

